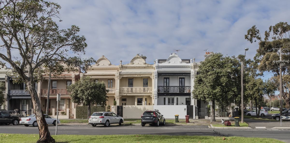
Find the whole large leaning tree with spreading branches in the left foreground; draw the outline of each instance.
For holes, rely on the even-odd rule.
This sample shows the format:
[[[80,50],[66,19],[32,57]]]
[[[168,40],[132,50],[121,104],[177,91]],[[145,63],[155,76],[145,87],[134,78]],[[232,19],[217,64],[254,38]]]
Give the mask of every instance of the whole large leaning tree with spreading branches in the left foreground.
[[[75,25],[60,30],[52,18],[59,18],[60,5],[43,0],[10,0],[0,3],[0,38],[2,44],[0,65],[9,63],[13,68],[14,82],[25,82],[30,93],[39,129],[37,142],[52,142],[34,82],[40,80],[44,69],[52,74],[64,71],[85,71],[95,60],[81,59],[85,54],[86,38],[76,35]],[[61,21],[61,20],[60,20]],[[19,54],[17,54],[19,53]],[[68,53],[74,56],[68,56]],[[14,55],[13,55],[14,54]],[[12,59],[13,57],[20,59]]]

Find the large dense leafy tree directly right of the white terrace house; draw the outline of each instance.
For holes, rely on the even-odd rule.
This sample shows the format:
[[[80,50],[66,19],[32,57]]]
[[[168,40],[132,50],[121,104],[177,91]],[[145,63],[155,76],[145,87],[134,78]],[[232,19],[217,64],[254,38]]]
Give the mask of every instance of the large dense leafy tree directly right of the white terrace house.
[[[238,60],[216,53],[201,62],[198,72],[192,91],[195,99],[212,101],[212,111],[215,111],[215,102],[219,106],[238,102],[236,99],[241,91],[241,66]],[[215,122],[215,112],[211,121]]]

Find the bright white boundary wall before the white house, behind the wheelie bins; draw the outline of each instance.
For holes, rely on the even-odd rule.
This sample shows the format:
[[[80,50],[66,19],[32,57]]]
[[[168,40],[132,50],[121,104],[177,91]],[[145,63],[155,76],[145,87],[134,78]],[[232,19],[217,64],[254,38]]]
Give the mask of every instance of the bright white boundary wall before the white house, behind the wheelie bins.
[[[153,110],[159,110],[165,119],[175,119],[175,115],[179,115],[179,119],[185,119],[187,114],[186,105],[153,105]]]

